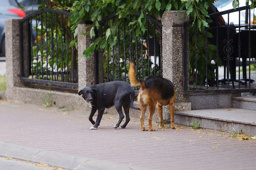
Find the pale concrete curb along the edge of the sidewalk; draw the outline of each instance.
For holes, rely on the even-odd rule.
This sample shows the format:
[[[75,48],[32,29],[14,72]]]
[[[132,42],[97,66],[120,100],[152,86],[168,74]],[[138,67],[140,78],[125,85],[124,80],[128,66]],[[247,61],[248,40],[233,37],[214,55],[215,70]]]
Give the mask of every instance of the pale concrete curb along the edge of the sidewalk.
[[[44,163],[66,170],[151,170],[139,166],[91,159],[56,151],[0,142],[0,156],[11,157],[33,163]]]

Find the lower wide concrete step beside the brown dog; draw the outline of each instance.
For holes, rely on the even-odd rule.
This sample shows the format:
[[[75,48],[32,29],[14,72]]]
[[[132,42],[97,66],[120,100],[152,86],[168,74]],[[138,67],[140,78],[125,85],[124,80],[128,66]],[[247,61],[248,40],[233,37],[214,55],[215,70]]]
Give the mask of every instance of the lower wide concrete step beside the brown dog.
[[[240,108],[217,108],[175,112],[175,124],[190,125],[200,122],[199,127],[239,132],[256,136],[256,111]]]

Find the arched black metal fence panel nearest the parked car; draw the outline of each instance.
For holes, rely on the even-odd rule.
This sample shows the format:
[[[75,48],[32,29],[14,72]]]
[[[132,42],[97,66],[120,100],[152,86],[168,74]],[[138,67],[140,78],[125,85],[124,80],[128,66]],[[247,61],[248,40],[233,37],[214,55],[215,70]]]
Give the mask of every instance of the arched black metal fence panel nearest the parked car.
[[[19,22],[21,79],[27,83],[78,87],[76,48],[65,11],[43,9]]]

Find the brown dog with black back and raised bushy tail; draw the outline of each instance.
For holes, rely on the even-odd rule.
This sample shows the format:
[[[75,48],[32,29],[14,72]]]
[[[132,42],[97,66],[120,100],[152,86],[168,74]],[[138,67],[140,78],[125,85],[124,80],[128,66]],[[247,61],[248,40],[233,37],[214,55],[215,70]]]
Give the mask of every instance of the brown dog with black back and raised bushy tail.
[[[144,81],[137,78],[134,63],[130,63],[129,79],[132,87],[140,86],[138,101],[140,103],[140,126],[142,131],[147,131],[144,127],[144,115],[149,109],[148,126],[150,131],[155,131],[152,127],[152,117],[155,113],[155,105],[159,114],[159,127],[163,127],[163,106],[169,105],[171,113],[171,128],[174,124],[174,102],[176,93],[170,80],[159,76],[148,77]]]

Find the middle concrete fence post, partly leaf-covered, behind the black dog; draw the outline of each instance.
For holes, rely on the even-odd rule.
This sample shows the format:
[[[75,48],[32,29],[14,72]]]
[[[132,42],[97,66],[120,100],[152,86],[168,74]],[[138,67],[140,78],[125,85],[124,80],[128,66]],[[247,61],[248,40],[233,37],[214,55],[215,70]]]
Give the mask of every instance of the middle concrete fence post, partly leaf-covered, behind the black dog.
[[[83,52],[89,47],[93,40],[89,34],[82,35],[82,33],[89,32],[90,24],[81,22],[78,24],[78,91],[85,86],[93,85],[94,82],[94,54],[86,59],[83,57]]]

